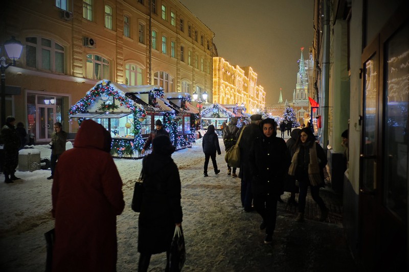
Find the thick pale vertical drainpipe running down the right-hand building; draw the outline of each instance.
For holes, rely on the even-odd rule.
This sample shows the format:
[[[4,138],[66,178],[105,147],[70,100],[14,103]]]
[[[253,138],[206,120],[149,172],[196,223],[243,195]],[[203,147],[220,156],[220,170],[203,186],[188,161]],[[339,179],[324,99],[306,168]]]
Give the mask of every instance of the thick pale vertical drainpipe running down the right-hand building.
[[[324,28],[323,28],[323,69],[322,69],[322,144],[324,151],[328,145],[328,96],[329,96],[329,50],[330,50],[330,10],[329,0],[324,0]]]

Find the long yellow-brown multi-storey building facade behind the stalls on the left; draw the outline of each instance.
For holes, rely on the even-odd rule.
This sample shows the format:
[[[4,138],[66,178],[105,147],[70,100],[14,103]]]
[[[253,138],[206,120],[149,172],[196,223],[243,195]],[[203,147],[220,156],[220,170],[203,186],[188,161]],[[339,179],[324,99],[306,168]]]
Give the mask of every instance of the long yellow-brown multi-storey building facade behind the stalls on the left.
[[[4,6],[0,43],[15,36],[24,45],[17,65],[6,70],[6,115],[24,122],[36,142],[49,141],[56,121],[76,132],[67,111],[101,79],[207,91],[212,101],[214,33],[177,0]]]

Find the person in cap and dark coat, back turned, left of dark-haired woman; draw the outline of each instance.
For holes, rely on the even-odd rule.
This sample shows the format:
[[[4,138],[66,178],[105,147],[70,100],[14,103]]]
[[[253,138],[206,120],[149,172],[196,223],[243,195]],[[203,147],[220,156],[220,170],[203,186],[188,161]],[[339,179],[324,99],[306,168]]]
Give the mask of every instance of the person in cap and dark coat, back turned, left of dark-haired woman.
[[[253,194],[252,194],[252,174],[249,166],[249,155],[252,144],[257,137],[263,136],[261,129],[259,127],[261,122],[261,114],[253,114],[250,116],[251,123],[247,126],[242,127],[243,134],[239,142],[240,147],[240,173],[241,178],[241,205],[245,212],[253,211]],[[241,130],[238,132],[239,135]]]

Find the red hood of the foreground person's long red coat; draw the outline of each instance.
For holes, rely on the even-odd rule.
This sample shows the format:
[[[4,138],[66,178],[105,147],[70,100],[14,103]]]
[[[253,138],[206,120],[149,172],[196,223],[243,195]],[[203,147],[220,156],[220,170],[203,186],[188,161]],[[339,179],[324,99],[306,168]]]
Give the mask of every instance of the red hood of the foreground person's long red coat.
[[[81,127],[75,137],[74,147],[110,152],[111,140],[111,135],[102,125],[88,119],[81,123]]]

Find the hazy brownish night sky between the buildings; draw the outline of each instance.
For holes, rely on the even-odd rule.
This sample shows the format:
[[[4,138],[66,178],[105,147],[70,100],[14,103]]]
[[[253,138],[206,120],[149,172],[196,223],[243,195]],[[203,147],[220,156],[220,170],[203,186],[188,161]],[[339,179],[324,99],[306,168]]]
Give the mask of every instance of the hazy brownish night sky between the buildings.
[[[301,47],[313,41],[313,0],[180,0],[214,33],[219,57],[252,66],[266,104],[292,100]]]

